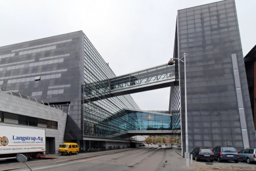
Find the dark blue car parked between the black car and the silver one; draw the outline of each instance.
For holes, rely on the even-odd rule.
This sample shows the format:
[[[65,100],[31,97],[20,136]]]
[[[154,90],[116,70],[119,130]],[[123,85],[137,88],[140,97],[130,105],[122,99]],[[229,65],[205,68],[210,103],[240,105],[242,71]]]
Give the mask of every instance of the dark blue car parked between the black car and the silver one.
[[[218,162],[222,162],[222,160],[233,160],[238,163],[239,161],[239,153],[236,148],[232,146],[220,146],[218,145],[213,149],[215,153],[215,159]]]

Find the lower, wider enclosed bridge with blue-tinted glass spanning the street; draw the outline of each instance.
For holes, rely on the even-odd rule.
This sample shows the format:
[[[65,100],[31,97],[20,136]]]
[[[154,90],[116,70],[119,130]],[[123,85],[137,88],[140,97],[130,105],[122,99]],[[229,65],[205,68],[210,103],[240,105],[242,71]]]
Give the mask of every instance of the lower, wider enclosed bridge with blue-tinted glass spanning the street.
[[[180,111],[121,109],[101,122],[117,126],[108,138],[135,135],[180,135]]]

